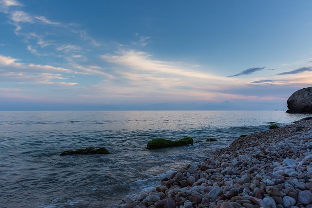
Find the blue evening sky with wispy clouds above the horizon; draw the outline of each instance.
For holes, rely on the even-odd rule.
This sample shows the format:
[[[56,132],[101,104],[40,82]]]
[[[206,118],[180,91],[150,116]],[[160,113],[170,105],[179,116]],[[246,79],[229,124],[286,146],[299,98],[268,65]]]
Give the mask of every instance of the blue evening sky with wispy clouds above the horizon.
[[[0,0],[0,110],[287,110],[311,0]]]

